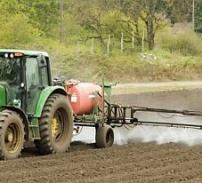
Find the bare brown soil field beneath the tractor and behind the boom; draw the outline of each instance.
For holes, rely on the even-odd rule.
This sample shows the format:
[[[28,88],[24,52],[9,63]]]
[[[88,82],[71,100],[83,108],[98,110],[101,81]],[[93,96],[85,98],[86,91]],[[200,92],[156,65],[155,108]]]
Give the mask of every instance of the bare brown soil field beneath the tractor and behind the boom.
[[[121,95],[115,101],[200,110],[202,90]],[[0,182],[201,183],[201,167],[202,145],[136,142],[95,149],[74,142],[68,153],[39,156],[27,149],[17,160],[0,161]]]

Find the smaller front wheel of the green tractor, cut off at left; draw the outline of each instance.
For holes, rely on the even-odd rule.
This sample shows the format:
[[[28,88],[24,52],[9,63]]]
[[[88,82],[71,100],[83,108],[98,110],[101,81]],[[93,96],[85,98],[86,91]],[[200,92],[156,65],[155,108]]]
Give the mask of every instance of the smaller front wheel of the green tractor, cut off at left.
[[[24,145],[24,125],[20,116],[10,110],[0,113],[0,159],[17,158]]]

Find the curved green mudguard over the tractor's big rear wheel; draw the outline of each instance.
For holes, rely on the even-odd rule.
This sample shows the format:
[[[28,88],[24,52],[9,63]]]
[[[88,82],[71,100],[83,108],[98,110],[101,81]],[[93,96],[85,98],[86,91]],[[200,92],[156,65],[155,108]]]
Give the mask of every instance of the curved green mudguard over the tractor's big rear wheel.
[[[59,93],[59,94],[67,96],[66,91],[61,86],[48,86],[48,87],[46,87],[45,89],[43,89],[41,91],[38,103],[36,105],[34,117],[36,117],[36,118],[41,117],[41,113],[42,113],[43,107],[46,103],[46,100],[53,93]]]

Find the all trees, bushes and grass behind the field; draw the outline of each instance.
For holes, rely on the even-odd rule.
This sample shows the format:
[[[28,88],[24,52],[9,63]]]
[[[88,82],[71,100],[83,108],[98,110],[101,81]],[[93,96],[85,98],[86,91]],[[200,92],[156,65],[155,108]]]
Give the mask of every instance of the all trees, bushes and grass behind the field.
[[[0,47],[44,50],[67,78],[201,78],[202,1],[0,0]],[[188,73],[188,74],[187,74]]]

